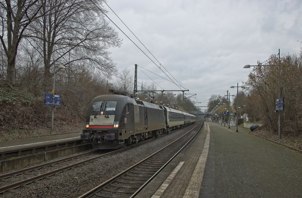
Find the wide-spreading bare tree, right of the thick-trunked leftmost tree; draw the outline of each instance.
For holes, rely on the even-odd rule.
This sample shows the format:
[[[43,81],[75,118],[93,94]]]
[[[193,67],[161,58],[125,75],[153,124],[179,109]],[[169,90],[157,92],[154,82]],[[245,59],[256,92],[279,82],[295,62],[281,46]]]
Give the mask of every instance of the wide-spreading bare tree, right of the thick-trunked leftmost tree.
[[[44,58],[45,83],[51,78],[54,63],[71,73],[75,62],[85,62],[104,73],[116,72],[109,47],[120,47],[118,33],[105,20],[102,1],[43,0],[43,17],[31,24],[30,44]]]

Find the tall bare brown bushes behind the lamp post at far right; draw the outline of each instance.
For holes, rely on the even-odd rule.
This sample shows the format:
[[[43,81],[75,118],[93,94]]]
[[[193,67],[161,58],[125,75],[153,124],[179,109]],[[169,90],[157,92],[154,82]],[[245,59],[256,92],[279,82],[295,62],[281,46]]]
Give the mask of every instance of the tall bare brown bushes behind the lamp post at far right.
[[[267,64],[278,65],[277,57],[272,55]],[[275,133],[278,133],[278,115],[274,112],[278,99],[278,69],[275,66],[255,67],[246,82],[251,95],[249,102],[253,105],[251,113],[260,117],[263,124]],[[284,111],[281,111],[282,131],[298,136],[302,126],[301,54],[282,56],[280,69],[281,96],[285,102]]]

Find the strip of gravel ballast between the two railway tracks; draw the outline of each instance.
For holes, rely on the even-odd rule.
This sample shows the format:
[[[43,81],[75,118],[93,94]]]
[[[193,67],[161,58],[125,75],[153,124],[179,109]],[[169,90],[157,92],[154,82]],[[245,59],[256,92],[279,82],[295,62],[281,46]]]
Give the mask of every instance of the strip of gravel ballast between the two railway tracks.
[[[175,141],[197,125],[173,131],[137,147],[99,158],[51,177],[5,192],[0,197],[74,198]],[[199,126],[194,129],[198,130]]]

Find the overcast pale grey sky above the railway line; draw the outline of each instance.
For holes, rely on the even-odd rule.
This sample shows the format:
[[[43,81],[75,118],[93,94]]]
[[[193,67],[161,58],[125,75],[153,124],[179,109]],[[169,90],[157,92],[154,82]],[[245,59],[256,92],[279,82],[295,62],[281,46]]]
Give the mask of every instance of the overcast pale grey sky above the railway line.
[[[197,94],[193,101],[207,102],[212,94],[219,95],[226,90],[231,95],[236,94],[236,88],[230,86],[237,86],[237,83],[240,86],[251,71],[243,69],[244,65],[265,61],[271,54],[278,54],[279,48],[281,54],[292,54],[298,53],[301,47],[298,42],[302,41],[301,0],[108,0],[108,5],[162,66],[189,89],[189,93]],[[114,23],[159,65],[107,5],[104,7]],[[110,51],[119,71],[127,67],[134,76],[134,64],[138,64],[168,78],[118,28],[115,29],[123,45]],[[160,86],[159,90],[179,89],[159,76],[144,72]],[[144,83],[152,82],[140,70],[137,76],[139,86],[142,79]]]

